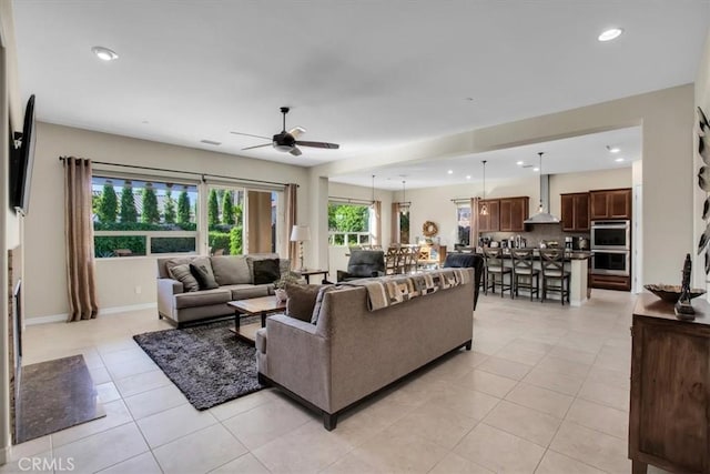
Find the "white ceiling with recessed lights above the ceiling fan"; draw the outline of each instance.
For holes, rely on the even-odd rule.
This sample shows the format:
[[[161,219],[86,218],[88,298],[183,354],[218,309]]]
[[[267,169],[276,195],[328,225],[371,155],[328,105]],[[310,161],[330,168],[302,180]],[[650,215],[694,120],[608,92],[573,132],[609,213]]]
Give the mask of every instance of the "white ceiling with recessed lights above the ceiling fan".
[[[16,0],[14,13],[20,87],[39,120],[311,167],[692,82],[710,0]],[[611,26],[625,34],[598,42]],[[99,61],[94,46],[119,60]],[[230,131],[272,135],[281,105],[303,140],[341,149],[241,151],[262,141]],[[599,147],[617,139],[636,137],[638,152],[638,130],[608,133],[579,139],[588,149],[487,153],[487,177],[537,151],[554,173],[590,157],[607,168]],[[475,180],[481,159],[450,167]],[[335,179],[369,185],[372,173]],[[422,163],[387,173],[445,182]]]

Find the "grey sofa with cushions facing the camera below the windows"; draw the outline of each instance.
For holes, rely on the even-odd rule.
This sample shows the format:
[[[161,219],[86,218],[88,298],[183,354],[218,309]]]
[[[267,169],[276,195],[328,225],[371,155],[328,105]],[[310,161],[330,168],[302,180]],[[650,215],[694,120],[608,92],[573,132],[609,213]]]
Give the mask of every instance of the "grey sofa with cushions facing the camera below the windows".
[[[233,314],[226,305],[230,301],[274,294],[272,282],[291,266],[288,260],[278,259],[275,253],[159,258],[156,263],[158,314],[178,327]],[[190,272],[190,264],[193,271],[194,268],[203,269],[207,283],[210,279],[213,282],[207,286],[214,288],[195,290],[196,279]],[[191,275],[193,280],[190,280]]]

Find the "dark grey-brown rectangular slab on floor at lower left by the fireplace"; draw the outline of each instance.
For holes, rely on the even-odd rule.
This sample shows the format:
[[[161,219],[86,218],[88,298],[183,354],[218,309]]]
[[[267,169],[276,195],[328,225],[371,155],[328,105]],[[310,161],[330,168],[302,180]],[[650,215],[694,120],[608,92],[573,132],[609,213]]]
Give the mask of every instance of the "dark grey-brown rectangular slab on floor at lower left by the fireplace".
[[[23,366],[19,387],[17,443],[106,415],[83,355]]]

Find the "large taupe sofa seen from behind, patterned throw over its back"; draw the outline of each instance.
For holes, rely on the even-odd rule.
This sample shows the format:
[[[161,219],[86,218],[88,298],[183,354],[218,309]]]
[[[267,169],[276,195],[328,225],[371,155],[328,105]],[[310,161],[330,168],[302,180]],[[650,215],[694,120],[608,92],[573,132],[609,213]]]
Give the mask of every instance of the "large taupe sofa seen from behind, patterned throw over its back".
[[[335,428],[338,414],[367,395],[453,350],[470,350],[474,270],[425,272],[453,273],[468,278],[375,311],[369,288],[356,281],[322,289],[314,323],[272,315],[256,332],[260,383],[285,391]]]

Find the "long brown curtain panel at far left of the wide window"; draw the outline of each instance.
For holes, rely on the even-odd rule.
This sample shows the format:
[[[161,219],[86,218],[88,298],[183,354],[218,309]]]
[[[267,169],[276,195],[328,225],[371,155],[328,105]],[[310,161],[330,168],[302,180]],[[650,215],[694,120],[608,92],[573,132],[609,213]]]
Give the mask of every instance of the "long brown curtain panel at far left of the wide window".
[[[74,157],[64,164],[64,234],[67,239],[68,322],[97,317],[91,161]]]

